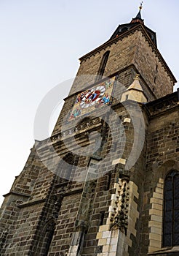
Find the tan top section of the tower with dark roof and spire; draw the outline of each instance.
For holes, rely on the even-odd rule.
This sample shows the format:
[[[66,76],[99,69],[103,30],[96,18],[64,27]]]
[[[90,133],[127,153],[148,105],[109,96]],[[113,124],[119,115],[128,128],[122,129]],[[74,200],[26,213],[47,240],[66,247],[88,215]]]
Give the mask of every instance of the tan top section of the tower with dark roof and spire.
[[[172,93],[175,78],[159,53],[156,33],[144,25],[141,8],[130,23],[119,25],[107,42],[80,58],[78,76],[98,75],[103,56],[108,52],[104,76],[120,72],[120,83],[129,86],[135,73],[138,73],[148,100]],[[123,76],[128,80],[123,79]],[[74,83],[71,94],[78,89],[81,89],[81,84],[77,86]]]

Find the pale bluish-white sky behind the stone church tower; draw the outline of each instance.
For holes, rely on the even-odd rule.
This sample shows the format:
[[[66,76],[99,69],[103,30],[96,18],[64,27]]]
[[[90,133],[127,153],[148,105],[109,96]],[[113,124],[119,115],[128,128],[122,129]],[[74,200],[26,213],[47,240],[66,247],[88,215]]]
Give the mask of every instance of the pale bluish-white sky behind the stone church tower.
[[[0,0],[0,195],[9,192],[23,170],[41,99],[58,83],[73,78],[79,57],[106,42],[119,23],[130,22],[139,4],[137,0]],[[178,13],[178,0],[143,1],[145,24],[156,31],[158,48],[177,80]]]

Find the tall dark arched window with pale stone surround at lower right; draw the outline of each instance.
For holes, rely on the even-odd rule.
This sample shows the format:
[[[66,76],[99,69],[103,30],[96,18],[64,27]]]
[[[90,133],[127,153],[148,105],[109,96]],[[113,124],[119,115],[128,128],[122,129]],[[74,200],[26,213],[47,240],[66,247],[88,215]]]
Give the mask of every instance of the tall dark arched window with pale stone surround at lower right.
[[[170,171],[164,183],[163,246],[179,245],[179,172]]]

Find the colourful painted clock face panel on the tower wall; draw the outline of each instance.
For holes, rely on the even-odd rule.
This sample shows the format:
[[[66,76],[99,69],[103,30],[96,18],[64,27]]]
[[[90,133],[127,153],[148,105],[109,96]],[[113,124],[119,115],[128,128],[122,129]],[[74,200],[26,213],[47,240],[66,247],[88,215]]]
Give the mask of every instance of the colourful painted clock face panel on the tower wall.
[[[111,105],[111,94],[114,88],[115,79],[116,77],[108,78],[98,85],[92,86],[92,88],[78,94],[68,120],[83,116],[103,105]]]

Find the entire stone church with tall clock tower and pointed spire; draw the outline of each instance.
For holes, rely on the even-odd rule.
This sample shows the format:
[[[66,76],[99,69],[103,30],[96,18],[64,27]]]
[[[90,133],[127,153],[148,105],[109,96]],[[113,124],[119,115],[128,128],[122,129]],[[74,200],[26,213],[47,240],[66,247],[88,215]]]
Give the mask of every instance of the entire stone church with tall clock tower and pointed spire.
[[[179,255],[178,92],[141,9],[80,58],[4,195],[0,255]]]

